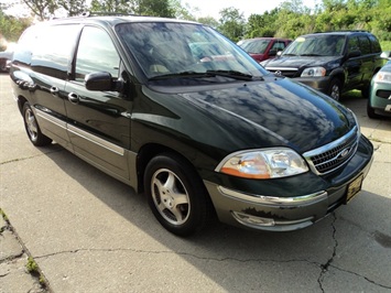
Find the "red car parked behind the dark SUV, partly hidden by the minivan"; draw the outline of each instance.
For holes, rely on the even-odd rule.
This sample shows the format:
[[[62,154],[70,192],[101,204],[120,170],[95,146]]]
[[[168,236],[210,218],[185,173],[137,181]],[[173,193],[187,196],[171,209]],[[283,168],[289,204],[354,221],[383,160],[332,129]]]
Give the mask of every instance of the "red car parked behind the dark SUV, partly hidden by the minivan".
[[[238,42],[238,45],[245,50],[257,62],[275,57],[283,51],[292,40],[275,37],[254,37]]]

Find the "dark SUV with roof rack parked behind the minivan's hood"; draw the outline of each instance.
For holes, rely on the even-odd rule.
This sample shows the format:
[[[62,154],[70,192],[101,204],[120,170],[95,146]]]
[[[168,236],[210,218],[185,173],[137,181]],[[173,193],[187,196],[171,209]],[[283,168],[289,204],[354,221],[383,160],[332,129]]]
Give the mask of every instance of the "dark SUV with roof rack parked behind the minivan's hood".
[[[280,56],[261,65],[338,100],[351,89],[368,96],[373,75],[384,64],[380,54],[380,43],[369,32],[314,33],[298,36]]]

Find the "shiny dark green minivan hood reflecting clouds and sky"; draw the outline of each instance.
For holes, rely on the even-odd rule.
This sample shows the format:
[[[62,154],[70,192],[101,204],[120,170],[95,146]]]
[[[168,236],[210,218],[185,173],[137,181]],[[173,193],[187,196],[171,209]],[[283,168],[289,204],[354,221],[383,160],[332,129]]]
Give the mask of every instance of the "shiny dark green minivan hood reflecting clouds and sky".
[[[344,106],[287,78],[269,76],[265,82],[180,95],[204,112],[207,122],[198,123],[207,123],[214,132],[218,129],[210,143],[222,140],[226,150],[284,145],[303,153],[355,126]]]

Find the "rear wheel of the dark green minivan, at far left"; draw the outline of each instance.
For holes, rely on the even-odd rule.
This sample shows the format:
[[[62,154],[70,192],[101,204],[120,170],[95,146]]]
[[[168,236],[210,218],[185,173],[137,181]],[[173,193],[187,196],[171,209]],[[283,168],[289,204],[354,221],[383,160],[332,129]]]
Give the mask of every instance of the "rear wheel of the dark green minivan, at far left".
[[[28,101],[23,105],[22,115],[24,120],[24,128],[30,141],[35,146],[44,146],[51,144],[52,140],[46,135],[42,134],[34,111]]]

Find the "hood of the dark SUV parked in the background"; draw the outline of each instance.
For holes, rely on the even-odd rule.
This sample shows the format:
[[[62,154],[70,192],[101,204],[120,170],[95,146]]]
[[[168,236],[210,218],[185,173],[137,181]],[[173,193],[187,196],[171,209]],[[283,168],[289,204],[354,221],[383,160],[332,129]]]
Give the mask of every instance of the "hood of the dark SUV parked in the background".
[[[323,66],[328,63],[338,62],[340,57],[322,57],[319,56],[281,56],[279,58],[267,59],[261,63],[261,65],[265,68],[271,67],[293,67],[293,68],[302,68],[308,66]]]

